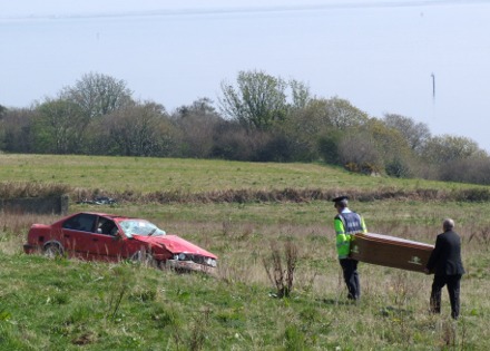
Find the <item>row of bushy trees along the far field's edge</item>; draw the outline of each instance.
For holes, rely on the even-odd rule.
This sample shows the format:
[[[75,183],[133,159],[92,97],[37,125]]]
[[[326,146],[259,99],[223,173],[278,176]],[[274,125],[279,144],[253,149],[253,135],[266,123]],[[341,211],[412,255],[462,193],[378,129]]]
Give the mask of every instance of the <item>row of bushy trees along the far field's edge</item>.
[[[396,114],[372,117],[297,80],[241,71],[216,104],[169,113],[124,80],[90,72],[30,107],[0,105],[0,152],[248,162],[322,162],[351,172],[490,184],[490,157],[470,138],[433,136]]]

